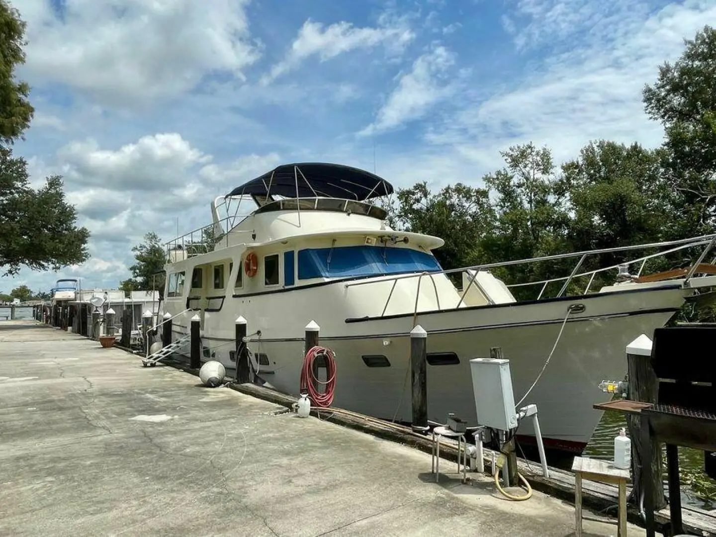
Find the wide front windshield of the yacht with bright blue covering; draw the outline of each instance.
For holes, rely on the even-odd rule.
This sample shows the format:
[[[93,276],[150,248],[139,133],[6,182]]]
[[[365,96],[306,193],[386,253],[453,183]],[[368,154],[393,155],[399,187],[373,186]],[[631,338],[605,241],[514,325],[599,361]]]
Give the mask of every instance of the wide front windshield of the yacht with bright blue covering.
[[[440,271],[430,253],[395,246],[339,246],[299,250],[299,280]]]

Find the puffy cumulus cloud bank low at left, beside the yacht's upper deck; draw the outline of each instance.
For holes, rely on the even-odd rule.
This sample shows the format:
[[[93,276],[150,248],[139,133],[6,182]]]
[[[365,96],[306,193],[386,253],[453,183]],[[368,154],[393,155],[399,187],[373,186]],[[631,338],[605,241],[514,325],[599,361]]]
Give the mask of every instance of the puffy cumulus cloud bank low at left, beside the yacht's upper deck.
[[[43,176],[64,176],[78,224],[91,233],[92,257],[61,274],[89,276],[97,285],[116,286],[129,277],[128,267],[134,262],[131,248],[143,241],[147,231],[168,241],[174,238],[177,224],[184,233],[209,223],[213,198],[274,168],[279,159],[276,153],[250,153],[231,163],[214,163],[211,155],[169,132],[142,136],[117,148],[102,147],[93,139],[75,140],[50,161],[29,159],[29,166]],[[48,279],[54,277],[33,274],[29,281],[37,287],[39,281],[49,286]],[[21,276],[22,281],[25,278]],[[17,281],[3,286],[12,289]]]

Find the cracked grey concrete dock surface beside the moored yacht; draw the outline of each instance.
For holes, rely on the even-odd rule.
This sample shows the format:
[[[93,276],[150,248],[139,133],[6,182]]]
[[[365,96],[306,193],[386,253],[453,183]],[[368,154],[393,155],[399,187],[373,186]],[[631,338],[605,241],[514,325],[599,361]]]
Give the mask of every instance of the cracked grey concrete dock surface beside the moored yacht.
[[[3,536],[574,535],[569,503],[34,321],[0,322],[0,468]]]

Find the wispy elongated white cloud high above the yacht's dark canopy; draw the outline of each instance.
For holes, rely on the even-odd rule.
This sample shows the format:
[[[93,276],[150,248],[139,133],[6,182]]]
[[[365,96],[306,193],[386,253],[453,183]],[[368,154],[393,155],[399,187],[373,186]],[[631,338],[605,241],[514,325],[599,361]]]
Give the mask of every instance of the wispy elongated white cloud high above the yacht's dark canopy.
[[[400,52],[405,45],[415,38],[415,34],[405,23],[405,19],[392,19],[382,16],[375,28],[356,28],[353,24],[342,21],[330,26],[320,22],[304,22],[299,34],[291,43],[291,48],[284,59],[271,67],[271,72],[262,79],[262,84],[269,84],[293,69],[311,56],[319,57],[321,62],[351,52],[355,49],[372,49],[383,44],[392,52]]]

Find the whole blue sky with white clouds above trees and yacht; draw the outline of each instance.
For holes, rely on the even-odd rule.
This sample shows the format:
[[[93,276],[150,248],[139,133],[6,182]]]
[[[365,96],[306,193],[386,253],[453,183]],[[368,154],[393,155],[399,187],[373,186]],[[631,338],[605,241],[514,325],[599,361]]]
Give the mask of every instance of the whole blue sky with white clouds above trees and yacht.
[[[12,0],[11,0],[12,1]],[[0,279],[115,287],[147,231],[173,238],[279,163],[373,170],[397,187],[479,184],[532,140],[659,145],[641,90],[705,0],[14,0],[36,115],[14,150],[64,176],[92,254]],[[375,155],[375,160],[374,156]]]

